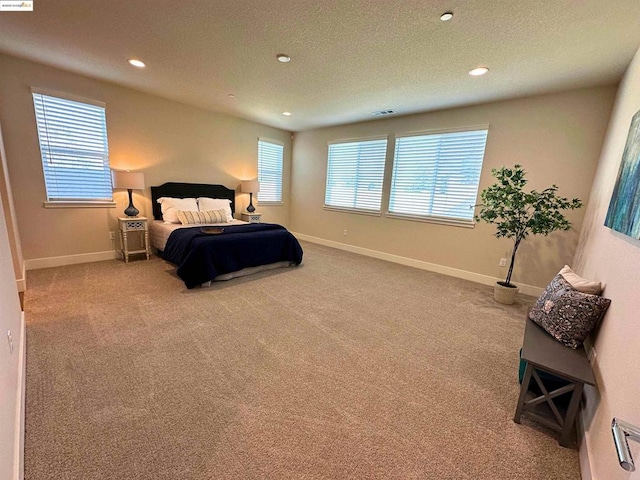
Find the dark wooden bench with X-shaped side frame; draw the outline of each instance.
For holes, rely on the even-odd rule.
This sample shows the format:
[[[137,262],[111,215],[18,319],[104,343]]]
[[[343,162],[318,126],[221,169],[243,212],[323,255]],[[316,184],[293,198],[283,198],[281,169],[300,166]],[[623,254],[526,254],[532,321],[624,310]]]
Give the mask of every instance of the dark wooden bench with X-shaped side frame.
[[[520,423],[521,416],[525,414],[559,432],[560,445],[573,446],[572,432],[584,385],[596,383],[584,346],[577,350],[564,346],[527,317],[522,359],[527,362],[527,367],[513,421]],[[566,381],[566,384],[549,391],[538,372],[550,373]],[[541,395],[532,391],[532,379]],[[568,406],[560,405],[557,397],[569,392],[573,393]]]

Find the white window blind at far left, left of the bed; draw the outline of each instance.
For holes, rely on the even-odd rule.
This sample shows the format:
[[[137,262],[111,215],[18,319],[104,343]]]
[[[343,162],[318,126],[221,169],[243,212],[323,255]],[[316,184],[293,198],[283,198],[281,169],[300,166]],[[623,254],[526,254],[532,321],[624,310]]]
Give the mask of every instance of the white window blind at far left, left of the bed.
[[[33,93],[48,201],[111,201],[103,106]]]

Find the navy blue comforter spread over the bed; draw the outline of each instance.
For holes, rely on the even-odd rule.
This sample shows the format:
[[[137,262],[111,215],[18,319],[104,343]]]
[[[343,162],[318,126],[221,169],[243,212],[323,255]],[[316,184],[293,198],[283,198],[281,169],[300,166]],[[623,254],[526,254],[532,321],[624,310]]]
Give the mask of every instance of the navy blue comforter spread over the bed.
[[[234,225],[218,235],[202,233],[200,228],[174,230],[163,253],[165,260],[178,265],[177,274],[187,288],[247,267],[302,262],[300,243],[282,225]]]

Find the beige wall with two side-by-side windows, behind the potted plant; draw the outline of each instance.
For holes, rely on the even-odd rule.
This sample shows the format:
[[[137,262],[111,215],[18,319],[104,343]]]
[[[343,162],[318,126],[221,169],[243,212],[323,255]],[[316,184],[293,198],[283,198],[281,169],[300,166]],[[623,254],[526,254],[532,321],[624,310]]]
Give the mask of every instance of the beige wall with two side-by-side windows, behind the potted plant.
[[[529,172],[532,188],[556,183],[562,195],[576,196],[586,203],[615,91],[613,86],[591,88],[297,133],[291,228],[324,240],[472,272],[477,277],[503,279],[506,269],[498,267],[498,261],[509,256],[511,242],[493,237],[495,230],[490,225],[469,229],[324,210],[327,142],[488,124],[480,189],[490,184],[491,168],[520,163]],[[388,202],[388,181],[386,185],[383,206],[385,198]],[[544,287],[564,263],[571,262],[583,216],[584,209],[569,213],[575,226],[571,232],[524,242],[513,280]],[[470,278],[475,278],[473,275]]]

